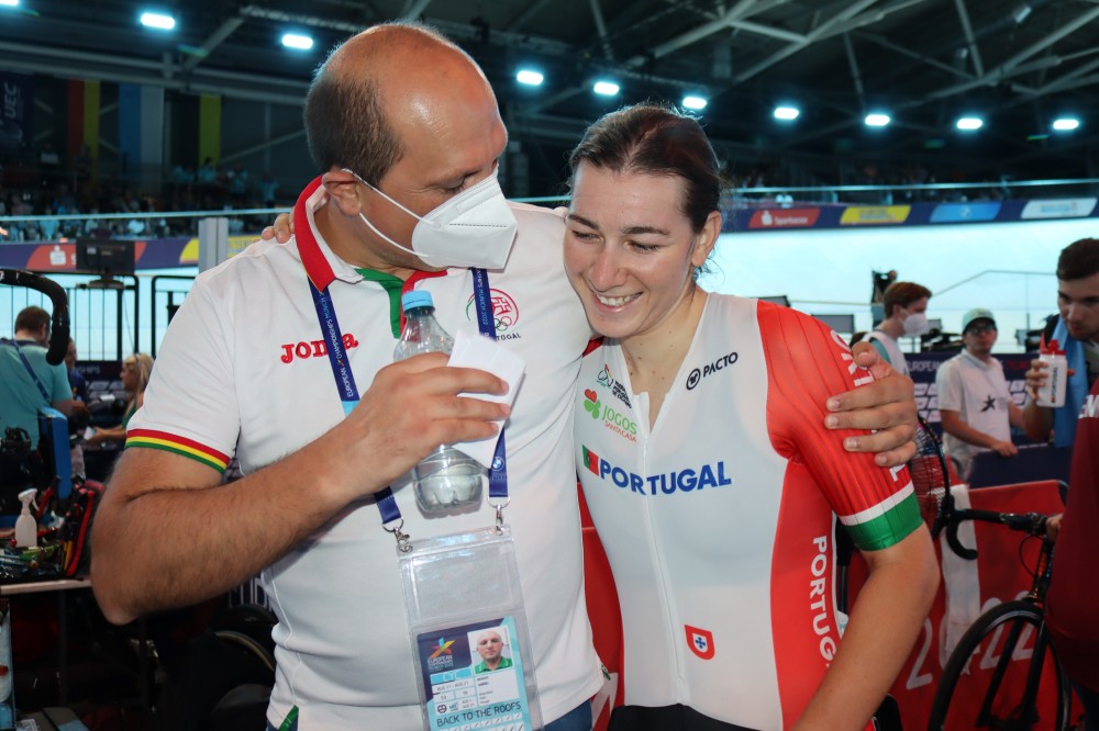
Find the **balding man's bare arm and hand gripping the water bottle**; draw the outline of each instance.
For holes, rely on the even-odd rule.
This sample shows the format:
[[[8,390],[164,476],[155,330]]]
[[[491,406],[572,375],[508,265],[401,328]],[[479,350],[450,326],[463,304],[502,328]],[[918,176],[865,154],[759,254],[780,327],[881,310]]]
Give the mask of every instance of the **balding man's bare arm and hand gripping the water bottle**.
[[[491,437],[491,421],[510,409],[458,394],[499,394],[504,382],[445,362],[434,353],[384,368],[347,418],[227,485],[188,458],[126,450],[93,527],[91,580],[104,616],[124,623],[229,591],[439,445]]]

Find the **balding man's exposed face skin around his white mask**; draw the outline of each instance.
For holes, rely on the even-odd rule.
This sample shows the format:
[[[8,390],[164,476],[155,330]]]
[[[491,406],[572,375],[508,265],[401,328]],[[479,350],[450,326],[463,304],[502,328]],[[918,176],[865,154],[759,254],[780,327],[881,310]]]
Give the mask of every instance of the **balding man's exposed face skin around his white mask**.
[[[419,93],[402,90],[398,100],[387,103],[404,155],[377,182],[379,190],[419,216],[491,175],[508,144],[496,98],[476,69],[457,69],[431,87]],[[370,223],[411,248],[417,220],[365,185],[360,195]],[[370,235],[368,228],[366,233]],[[429,268],[412,255],[371,238],[379,256],[408,268]]]

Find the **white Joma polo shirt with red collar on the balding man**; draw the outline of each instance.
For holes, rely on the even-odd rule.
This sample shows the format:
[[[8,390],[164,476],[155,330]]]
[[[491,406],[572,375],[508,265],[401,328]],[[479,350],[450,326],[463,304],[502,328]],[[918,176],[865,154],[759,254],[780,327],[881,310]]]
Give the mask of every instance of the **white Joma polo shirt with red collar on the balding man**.
[[[337,424],[343,408],[307,271],[330,288],[359,392],[392,361],[389,295],[321,239],[312,214],[325,203],[317,180],[295,207],[295,239],[257,241],[196,280],[165,336],[129,446],[168,449],[222,469],[235,454],[247,474]],[[507,425],[511,505],[504,516],[514,530],[550,721],[601,684],[585,612],[571,454],[571,396],[590,330],[564,275],[562,220],[544,209],[512,210],[518,240],[507,268],[489,272],[500,342],[526,363]],[[476,331],[468,270],[411,281],[432,293],[447,331]],[[408,484],[392,487],[413,539],[493,522],[487,505],[428,518]],[[347,506],[266,569],[263,582],[279,619],[273,724],[297,706],[303,731],[421,728],[396,543],[373,499]]]

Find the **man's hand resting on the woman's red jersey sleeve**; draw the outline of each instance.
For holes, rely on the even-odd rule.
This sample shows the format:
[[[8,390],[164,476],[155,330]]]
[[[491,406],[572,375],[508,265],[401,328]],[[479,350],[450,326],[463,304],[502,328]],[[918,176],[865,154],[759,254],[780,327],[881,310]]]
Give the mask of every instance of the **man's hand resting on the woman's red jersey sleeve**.
[[[851,452],[877,452],[880,466],[903,464],[915,454],[917,408],[912,380],[885,362],[868,342],[852,348],[856,366],[874,375],[852,391],[833,395],[825,404],[829,429],[874,429],[876,434],[848,437],[844,449]]]

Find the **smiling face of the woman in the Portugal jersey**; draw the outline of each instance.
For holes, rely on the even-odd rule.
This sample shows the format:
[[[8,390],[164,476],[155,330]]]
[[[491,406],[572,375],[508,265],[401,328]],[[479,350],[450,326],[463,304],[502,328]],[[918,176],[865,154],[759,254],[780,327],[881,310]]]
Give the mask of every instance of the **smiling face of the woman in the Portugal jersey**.
[[[566,218],[565,270],[591,327],[625,339],[675,317],[721,232],[696,233],[682,213],[682,178],[613,172],[581,162]]]

